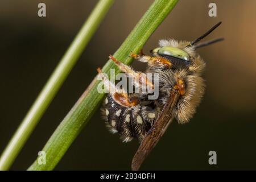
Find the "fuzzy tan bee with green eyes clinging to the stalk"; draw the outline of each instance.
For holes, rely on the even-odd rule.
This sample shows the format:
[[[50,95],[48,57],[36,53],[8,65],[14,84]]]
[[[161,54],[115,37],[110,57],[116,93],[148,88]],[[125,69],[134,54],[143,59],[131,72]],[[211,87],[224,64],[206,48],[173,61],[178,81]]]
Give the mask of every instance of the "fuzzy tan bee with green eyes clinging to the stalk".
[[[146,73],[159,75],[157,99],[148,100],[146,96],[149,93],[130,94],[123,89],[115,89],[105,98],[102,107],[106,126],[112,133],[118,133],[123,142],[138,138],[141,143],[133,158],[133,170],[139,169],[174,118],[183,124],[195,114],[205,90],[202,77],[205,62],[196,49],[224,40],[220,38],[198,43],[220,24],[218,22],[192,42],[160,40],[159,47],[152,49],[151,55],[132,54],[138,61],[147,63],[146,72],[134,71],[110,55],[122,72],[135,78],[135,87],[141,88],[142,84],[146,84],[155,89],[154,79],[149,80]],[[97,71],[101,73],[100,68]],[[115,87],[107,77],[102,78],[104,85]]]

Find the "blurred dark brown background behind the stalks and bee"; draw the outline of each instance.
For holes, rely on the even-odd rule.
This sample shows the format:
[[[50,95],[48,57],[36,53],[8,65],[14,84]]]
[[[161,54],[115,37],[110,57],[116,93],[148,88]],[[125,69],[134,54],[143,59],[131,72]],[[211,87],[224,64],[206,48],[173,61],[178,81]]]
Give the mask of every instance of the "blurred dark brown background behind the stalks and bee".
[[[39,18],[38,3],[47,6]],[[46,83],[97,1],[0,1],[0,152]],[[117,0],[11,169],[27,169],[60,121],[121,45],[152,0]],[[208,16],[210,2],[217,17]],[[193,40],[218,21],[205,40],[225,42],[199,50],[207,62],[207,90],[195,117],[172,123],[141,169],[256,169],[256,1],[184,0],[144,47],[159,39]],[[134,62],[135,69],[145,65]],[[98,111],[56,169],[130,169],[138,142],[122,143],[105,129]],[[217,152],[217,165],[208,152]]]

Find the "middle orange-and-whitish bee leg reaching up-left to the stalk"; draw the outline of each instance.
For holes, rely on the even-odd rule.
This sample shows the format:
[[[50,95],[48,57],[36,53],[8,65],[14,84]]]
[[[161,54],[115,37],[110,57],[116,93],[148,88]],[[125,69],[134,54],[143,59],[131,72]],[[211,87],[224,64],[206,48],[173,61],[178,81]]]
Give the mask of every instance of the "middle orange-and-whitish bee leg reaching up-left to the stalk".
[[[147,75],[142,72],[136,72],[134,71],[131,67],[128,65],[125,65],[115,59],[112,55],[109,56],[110,59],[114,61],[114,63],[118,66],[118,68],[127,73],[129,77],[134,78],[134,85],[137,86],[138,88],[141,88],[143,86],[150,86],[151,89],[154,89],[154,84],[150,80],[148,80]]]

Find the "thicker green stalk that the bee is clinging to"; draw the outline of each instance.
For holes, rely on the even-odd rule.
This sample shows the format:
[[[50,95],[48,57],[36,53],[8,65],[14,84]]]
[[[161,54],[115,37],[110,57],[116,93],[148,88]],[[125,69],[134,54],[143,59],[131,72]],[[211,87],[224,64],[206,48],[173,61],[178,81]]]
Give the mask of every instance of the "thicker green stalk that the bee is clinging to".
[[[166,18],[174,8],[178,0],[156,0],[146,14],[138,22],[127,37],[122,46],[114,53],[114,57],[125,64],[130,64],[132,59],[130,53],[137,53],[142,49],[150,35],[156,30],[160,23]],[[110,68],[115,68],[113,61],[109,60],[102,72],[110,75]],[[94,78],[84,94],[76,102],[75,106],[69,111],[55,132],[49,138],[43,151],[46,152],[46,164],[39,164],[38,160],[28,168],[28,170],[51,170],[63,157],[71,146],[73,140],[80,133],[82,127],[86,125],[92,114],[97,109],[104,94],[97,92],[97,85],[100,81]]]

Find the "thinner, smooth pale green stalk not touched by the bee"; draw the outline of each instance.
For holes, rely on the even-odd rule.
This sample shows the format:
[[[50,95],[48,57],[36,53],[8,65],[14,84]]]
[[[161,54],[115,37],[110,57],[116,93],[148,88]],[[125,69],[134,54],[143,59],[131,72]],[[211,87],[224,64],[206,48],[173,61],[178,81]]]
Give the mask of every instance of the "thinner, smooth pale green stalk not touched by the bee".
[[[38,98],[36,98],[26,117],[13,135],[13,138],[11,138],[5,151],[3,151],[0,158],[0,170],[7,170],[10,168],[11,164],[13,164],[19,151],[26,143],[28,137],[30,137],[32,131],[39,122],[39,119],[42,117],[53,100],[53,97],[63,84],[65,78],[67,78],[69,72],[76,64],[81,53],[84,51],[94,32],[96,32],[97,27],[105,17],[105,14],[108,12],[113,2],[114,0],[100,0],[97,3],[89,18],[73,40],[71,46],[69,46],[67,52],[60,60],[59,65],[57,65],[46,85],[44,85],[43,90],[40,92]]]

